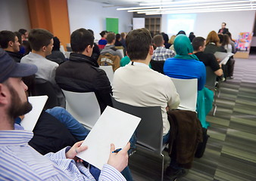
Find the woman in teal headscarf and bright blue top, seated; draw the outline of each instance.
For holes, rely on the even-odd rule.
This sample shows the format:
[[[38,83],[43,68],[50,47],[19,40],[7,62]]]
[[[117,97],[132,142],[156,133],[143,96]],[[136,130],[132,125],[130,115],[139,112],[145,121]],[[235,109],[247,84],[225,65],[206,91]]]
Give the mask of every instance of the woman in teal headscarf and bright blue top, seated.
[[[198,79],[197,113],[198,119],[204,128],[208,127],[206,115],[211,111],[214,93],[204,87],[206,70],[204,63],[198,61],[198,57],[192,54],[193,48],[186,35],[177,35],[174,40],[176,56],[165,60],[164,74],[171,78]]]

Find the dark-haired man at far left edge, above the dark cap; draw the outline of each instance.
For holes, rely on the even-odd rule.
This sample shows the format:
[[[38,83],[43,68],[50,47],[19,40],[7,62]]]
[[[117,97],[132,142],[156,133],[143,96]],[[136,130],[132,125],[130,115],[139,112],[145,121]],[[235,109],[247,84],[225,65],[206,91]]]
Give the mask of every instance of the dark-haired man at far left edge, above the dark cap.
[[[0,46],[3,48],[17,63],[23,57],[20,51],[20,42],[14,32],[4,30],[0,32]]]

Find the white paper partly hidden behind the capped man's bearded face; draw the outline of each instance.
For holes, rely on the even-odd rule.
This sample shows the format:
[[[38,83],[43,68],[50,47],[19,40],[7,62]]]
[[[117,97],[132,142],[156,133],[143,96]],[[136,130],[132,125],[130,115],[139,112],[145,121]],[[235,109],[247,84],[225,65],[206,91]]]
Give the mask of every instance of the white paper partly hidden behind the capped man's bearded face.
[[[28,100],[32,104],[33,109],[24,116],[23,120],[20,122],[20,125],[24,127],[24,130],[33,131],[39,115],[41,114],[42,109],[48,100],[48,96],[28,97]]]

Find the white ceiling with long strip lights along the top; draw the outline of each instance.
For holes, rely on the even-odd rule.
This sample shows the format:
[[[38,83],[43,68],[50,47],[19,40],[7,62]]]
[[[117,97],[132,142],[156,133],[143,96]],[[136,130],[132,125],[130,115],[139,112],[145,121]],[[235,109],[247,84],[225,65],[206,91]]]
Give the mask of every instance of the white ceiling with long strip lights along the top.
[[[103,8],[138,14],[184,14],[220,11],[254,11],[256,0],[87,0]]]

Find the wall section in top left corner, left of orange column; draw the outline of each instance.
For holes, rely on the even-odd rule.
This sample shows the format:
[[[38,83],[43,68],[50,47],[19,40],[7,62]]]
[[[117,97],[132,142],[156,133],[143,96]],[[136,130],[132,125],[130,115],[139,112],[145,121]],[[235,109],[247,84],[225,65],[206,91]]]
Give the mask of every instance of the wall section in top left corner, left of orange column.
[[[0,0],[0,31],[30,29],[27,0]]]

